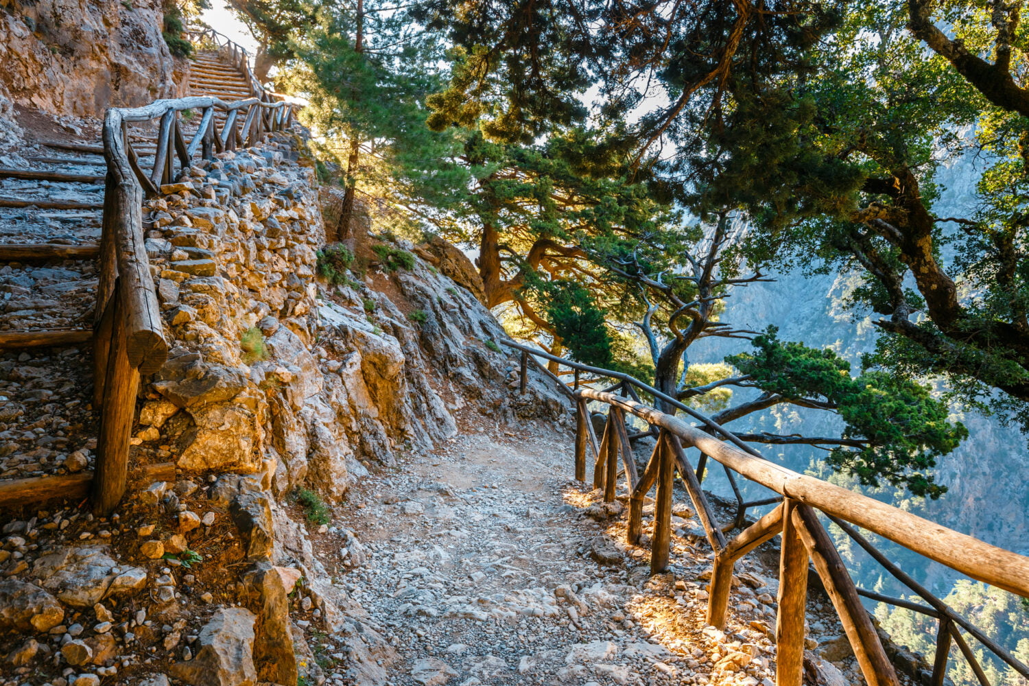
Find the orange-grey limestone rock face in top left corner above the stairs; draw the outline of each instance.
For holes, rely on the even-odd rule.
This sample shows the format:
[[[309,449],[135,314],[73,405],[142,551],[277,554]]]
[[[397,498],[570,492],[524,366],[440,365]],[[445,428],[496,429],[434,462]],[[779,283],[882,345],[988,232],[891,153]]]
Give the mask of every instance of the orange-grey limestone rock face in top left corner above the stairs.
[[[188,79],[176,72],[187,69],[187,62],[168,50],[159,0],[4,6],[0,92],[15,103],[58,115],[101,117],[107,107],[185,95]]]

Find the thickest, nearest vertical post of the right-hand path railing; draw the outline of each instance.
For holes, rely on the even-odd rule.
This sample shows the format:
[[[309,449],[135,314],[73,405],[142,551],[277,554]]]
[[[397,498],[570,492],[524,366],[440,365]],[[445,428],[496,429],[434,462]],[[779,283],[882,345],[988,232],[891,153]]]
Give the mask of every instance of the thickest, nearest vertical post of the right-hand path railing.
[[[797,503],[784,499],[779,555],[779,614],[776,619],[776,686],[804,683],[805,606],[808,600],[808,551],[790,514]]]

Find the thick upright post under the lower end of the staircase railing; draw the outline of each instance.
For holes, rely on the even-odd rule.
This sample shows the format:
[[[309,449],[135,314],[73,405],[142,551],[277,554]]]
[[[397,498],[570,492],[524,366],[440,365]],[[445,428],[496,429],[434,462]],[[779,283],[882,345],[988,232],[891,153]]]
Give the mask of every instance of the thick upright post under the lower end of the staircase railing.
[[[119,280],[120,281],[120,280]],[[129,362],[126,317],[120,283],[115,286],[113,326],[104,382],[104,406],[97,440],[97,468],[93,480],[94,509],[110,514],[126,491],[129,474],[129,439],[136,414],[139,370]]]

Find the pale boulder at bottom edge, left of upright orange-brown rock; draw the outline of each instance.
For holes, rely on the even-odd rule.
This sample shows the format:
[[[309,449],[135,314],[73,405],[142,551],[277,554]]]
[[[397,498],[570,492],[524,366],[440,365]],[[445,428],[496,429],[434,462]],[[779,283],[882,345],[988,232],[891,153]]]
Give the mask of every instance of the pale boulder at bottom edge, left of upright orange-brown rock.
[[[200,630],[196,656],[176,662],[171,676],[192,686],[255,686],[254,620],[244,608],[218,610]]]

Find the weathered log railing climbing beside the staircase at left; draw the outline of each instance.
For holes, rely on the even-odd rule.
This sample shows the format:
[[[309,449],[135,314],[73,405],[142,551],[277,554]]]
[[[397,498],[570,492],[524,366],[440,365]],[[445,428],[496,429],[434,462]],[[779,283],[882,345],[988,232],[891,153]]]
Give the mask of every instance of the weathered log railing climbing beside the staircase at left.
[[[110,512],[125,494],[129,444],[140,374],[153,373],[168,357],[168,341],[143,232],[143,198],[161,192],[199,154],[252,146],[292,122],[293,105],[265,92],[253,78],[246,51],[207,29],[196,40],[214,40],[247,75],[255,97],[232,103],[217,98],[157,100],[138,108],[111,108],[104,117],[107,178],[101,237],[101,269],[94,324],[95,405],[100,414],[94,508]],[[200,113],[189,136],[182,113]],[[219,127],[219,113],[223,113]],[[133,124],[157,124],[151,164],[134,148]],[[187,140],[188,139],[188,140]]]

